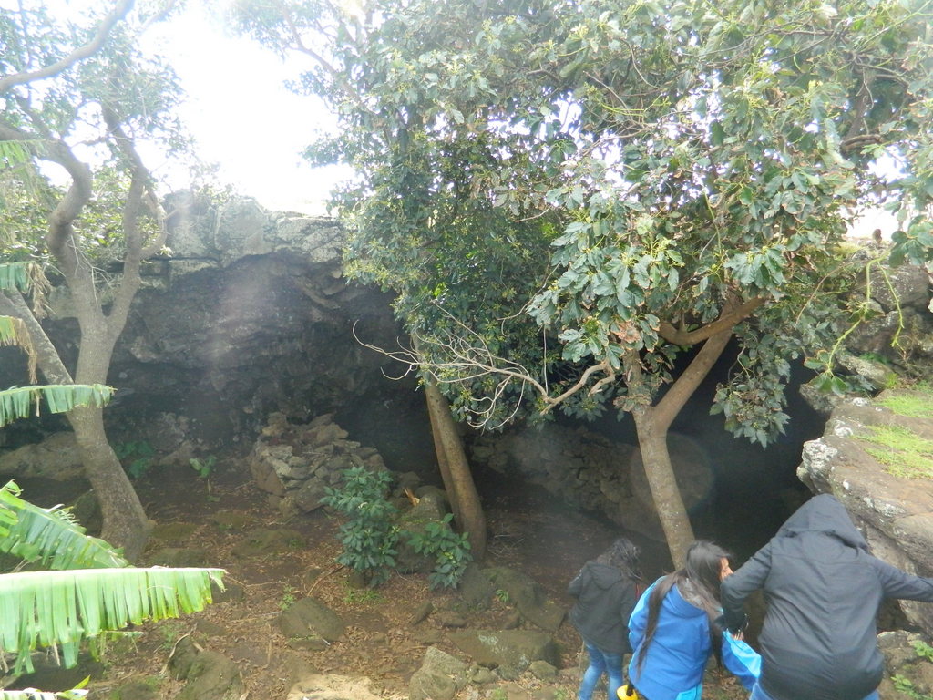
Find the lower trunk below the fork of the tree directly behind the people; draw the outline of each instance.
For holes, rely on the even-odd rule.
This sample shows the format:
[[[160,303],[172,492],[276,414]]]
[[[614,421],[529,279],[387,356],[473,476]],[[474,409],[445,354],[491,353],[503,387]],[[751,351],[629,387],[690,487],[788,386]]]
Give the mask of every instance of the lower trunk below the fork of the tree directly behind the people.
[[[674,465],[667,450],[667,427],[657,425],[650,409],[635,412],[634,420],[642,465],[651,488],[651,499],[658,511],[671,559],[674,566],[680,568],[684,566],[684,554],[694,539],[693,527],[684,507],[684,499],[680,497]]]

